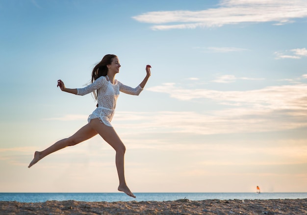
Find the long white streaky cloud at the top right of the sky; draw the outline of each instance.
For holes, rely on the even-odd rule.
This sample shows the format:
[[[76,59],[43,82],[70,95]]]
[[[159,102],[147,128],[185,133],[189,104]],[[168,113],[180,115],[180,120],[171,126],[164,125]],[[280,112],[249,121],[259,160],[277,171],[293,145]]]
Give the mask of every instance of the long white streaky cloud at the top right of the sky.
[[[132,17],[155,24],[153,30],[220,27],[226,24],[276,22],[293,23],[307,17],[306,0],[221,0],[216,8],[200,11],[153,11]]]

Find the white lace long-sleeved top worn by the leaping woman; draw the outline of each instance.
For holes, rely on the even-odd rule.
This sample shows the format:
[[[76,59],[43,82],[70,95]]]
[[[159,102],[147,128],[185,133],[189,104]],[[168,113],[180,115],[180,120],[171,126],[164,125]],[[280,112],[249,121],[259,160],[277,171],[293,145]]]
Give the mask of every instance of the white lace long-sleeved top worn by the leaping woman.
[[[136,88],[128,87],[117,80],[111,84],[107,78],[107,76],[101,76],[92,84],[77,89],[77,95],[84,96],[97,90],[98,108],[89,116],[88,122],[99,118],[105,125],[112,126],[110,122],[114,115],[119,92],[138,96],[143,88],[140,85]]]

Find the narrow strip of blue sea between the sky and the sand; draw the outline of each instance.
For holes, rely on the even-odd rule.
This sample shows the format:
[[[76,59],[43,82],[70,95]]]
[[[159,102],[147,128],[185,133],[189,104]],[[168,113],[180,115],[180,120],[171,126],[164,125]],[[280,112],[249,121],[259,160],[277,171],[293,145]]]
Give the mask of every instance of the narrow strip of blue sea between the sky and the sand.
[[[136,192],[136,198],[125,193],[87,193],[87,192],[0,192],[0,201],[46,202],[76,200],[84,202],[117,202],[117,201],[174,201],[179,199],[305,199],[307,192]]]

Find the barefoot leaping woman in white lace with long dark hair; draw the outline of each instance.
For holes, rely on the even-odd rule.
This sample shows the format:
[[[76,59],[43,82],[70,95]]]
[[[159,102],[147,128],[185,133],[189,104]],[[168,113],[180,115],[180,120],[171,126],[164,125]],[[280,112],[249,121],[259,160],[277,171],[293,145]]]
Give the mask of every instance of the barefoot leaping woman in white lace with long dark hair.
[[[135,198],[134,194],[129,190],[125,180],[124,155],[126,147],[110,122],[114,115],[119,92],[139,95],[151,75],[151,66],[146,66],[146,77],[136,88],[128,87],[115,79],[115,75],[119,72],[120,67],[121,65],[118,57],[113,54],[107,54],[102,58],[102,61],[94,67],[92,72],[92,83],[89,86],[81,89],[68,89],[65,87],[62,80],[57,81],[57,87],[60,87],[62,91],[67,93],[83,96],[93,92],[95,98],[98,100],[97,108],[89,116],[88,124],[80,128],[73,136],[60,140],[43,151],[36,151],[28,167],[33,166],[52,152],[65,148],[66,146],[76,145],[99,134],[116,151],[116,167],[119,177],[118,190]]]

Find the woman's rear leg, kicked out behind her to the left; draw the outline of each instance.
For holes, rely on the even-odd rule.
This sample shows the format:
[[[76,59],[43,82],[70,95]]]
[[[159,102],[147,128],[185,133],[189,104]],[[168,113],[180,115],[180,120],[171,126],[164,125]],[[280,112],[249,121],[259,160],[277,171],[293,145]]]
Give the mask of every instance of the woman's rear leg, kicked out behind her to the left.
[[[78,143],[86,141],[94,137],[96,134],[97,132],[90,126],[90,124],[86,124],[82,128],[80,128],[73,136],[54,143],[50,147],[46,148],[44,151],[36,151],[34,153],[34,158],[29,164],[28,168],[32,167],[39,160],[51,154],[52,152],[55,152],[67,146],[76,145]]]

